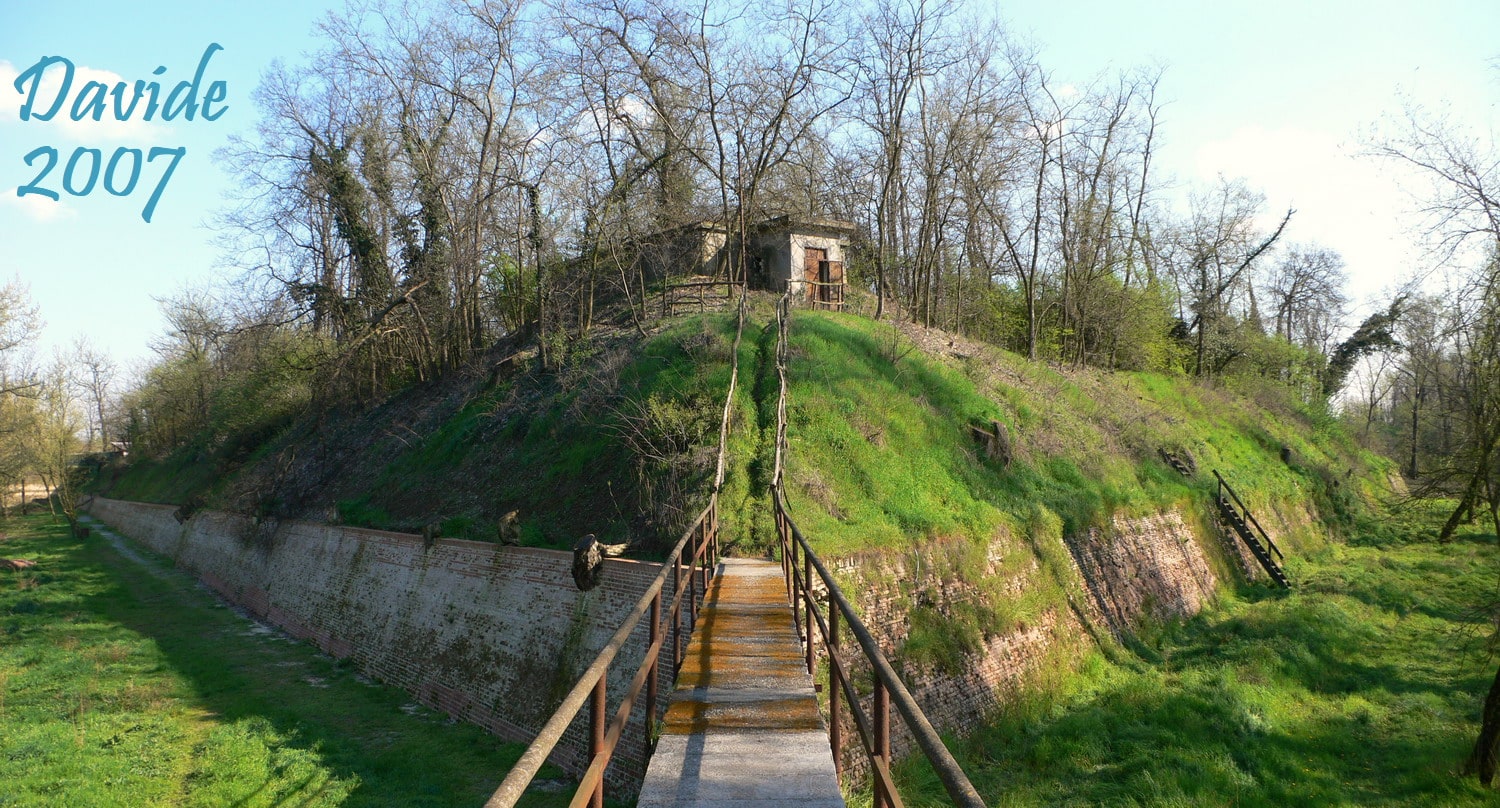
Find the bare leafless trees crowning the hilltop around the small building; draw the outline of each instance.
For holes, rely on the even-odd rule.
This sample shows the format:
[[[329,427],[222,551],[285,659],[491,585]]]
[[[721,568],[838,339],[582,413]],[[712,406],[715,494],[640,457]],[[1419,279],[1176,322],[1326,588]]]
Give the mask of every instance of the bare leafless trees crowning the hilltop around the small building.
[[[321,34],[224,154],[226,237],[320,394],[381,396],[506,336],[555,364],[600,316],[654,312],[634,256],[656,234],[810,214],[858,225],[876,316],[1322,396],[1341,259],[1282,249],[1292,211],[1260,226],[1239,181],[1167,204],[1155,72],[1059,82],[952,1],[408,3]]]

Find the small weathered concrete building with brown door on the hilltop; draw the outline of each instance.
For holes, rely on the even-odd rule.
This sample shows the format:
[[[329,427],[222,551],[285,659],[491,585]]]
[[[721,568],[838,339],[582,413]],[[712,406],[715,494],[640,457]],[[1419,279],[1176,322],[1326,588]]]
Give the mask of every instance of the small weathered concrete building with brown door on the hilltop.
[[[792,291],[795,301],[842,309],[844,250],[854,225],[837,219],[778,216],[747,232],[744,273],[740,250],[718,222],[693,222],[644,240],[640,256],[656,277],[744,277],[752,289]],[[734,270],[726,271],[726,270]]]

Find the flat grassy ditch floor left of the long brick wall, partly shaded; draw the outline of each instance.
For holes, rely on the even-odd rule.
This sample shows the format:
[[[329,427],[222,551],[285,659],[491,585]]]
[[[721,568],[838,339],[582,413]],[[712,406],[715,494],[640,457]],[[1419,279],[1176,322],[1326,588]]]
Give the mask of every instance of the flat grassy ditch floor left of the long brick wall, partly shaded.
[[[46,517],[0,532],[36,561],[0,573],[0,805],[480,805],[520,754],[144,550]]]

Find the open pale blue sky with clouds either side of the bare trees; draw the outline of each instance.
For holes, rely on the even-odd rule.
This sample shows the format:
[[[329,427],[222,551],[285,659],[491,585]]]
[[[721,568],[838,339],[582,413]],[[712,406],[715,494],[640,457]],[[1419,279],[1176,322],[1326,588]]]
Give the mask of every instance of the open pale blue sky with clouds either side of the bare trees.
[[[237,274],[224,264],[210,223],[230,177],[213,151],[256,123],[252,91],[273,63],[314,49],[314,25],[342,0],[159,0],[152,3],[0,0],[0,283],[20,279],[46,322],[38,349],[50,354],[87,337],[123,366],[141,366],[165,330],[158,298]],[[1378,304],[1424,261],[1413,231],[1410,184],[1396,166],[1365,156],[1371,138],[1404,103],[1448,109],[1474,129],[1500,117],[1500,1],[1496,0],[1006,0],[970,3],[998,13],[1030,40],[1053,79],[1084,85],[1110,70],[1164,69],[1160,165],[1173,193],[1244,177],[1266,195],[1268,226],[1298,210],[1286,237],[1340,252],[1352,292]],[[222,81],[218,120],[146,123],[21,121],[12,82],[45,55],[75,64],[75,87],[96,79],[158,79],[166,96],[192,81]],[[158,67],[165,67],[159,76]],[[45,88],[45,87],[44,87]],[[39,106],[48,102],[40,93]],[[200,96],[200,102],[202,97]],[[140,115],[136,115],[140,117]],[[58,114],[57,118],[66,118]],[[26,156],[57,150],[38,184],[51,201],[18,196],[33,183]],[[128,189],[130,148],[186,148],[162,187],[150,222],[142,208],[171,154],[142,160]],[[86,195],[63,189],[78,148],[98,148],[116,172]],[[120,153],[120,150],[124,150]],[[87,187],[84,151],[70,187]]]

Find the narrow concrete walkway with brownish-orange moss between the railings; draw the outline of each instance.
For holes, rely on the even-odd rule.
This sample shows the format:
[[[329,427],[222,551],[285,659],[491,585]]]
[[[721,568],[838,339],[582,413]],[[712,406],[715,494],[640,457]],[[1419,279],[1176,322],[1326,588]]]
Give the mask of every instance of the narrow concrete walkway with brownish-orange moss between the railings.
[[[782,567],[724,559],[676,676],[639,808],[843,808]]]

